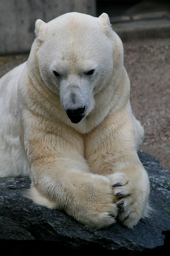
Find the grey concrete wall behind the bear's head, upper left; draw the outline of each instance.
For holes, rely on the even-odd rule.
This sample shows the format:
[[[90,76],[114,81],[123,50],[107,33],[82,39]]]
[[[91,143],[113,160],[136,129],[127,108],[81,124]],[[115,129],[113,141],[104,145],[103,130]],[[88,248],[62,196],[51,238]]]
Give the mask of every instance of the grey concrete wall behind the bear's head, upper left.
[[[73,11],[96,16],[95,0],[0,0],[0,54],[30,51],[37,19]]]

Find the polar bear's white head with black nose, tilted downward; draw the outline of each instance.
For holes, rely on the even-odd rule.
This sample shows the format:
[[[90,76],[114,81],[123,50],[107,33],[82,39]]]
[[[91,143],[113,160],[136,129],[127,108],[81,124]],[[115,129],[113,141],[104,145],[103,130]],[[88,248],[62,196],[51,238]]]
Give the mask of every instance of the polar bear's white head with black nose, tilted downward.
[[[60,96],[72,123],[78,123],[113,75],[116,43],[108,15],[71,12],[48,23],[37,20],[35,33],[40,76]]]

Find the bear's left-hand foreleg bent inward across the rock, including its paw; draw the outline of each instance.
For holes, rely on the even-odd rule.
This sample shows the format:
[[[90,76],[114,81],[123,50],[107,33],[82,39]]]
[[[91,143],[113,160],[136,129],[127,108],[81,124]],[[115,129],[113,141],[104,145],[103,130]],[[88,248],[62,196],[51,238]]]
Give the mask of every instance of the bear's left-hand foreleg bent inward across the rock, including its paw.
[[[107,177],[89,172],[74,138],[70,147],[61,137],[53,137],[48,146],[49,134],[41,140],[29,140],[32,186],[27,197],[49,208],[65,210],[87,226],[100,228],[115,223],[118,210],[113,184]]]

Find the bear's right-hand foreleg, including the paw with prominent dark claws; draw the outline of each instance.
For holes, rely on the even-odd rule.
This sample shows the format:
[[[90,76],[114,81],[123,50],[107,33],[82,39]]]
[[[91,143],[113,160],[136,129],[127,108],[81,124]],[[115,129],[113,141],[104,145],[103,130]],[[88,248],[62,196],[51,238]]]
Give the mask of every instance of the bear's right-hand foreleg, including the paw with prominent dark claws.
[[[113,184],[119,208],[118,219],[133,227],[149,210],[149,180],[139,161],[135,131],[129,111],[110,114],[86,136],[85,157],[91,171]]]

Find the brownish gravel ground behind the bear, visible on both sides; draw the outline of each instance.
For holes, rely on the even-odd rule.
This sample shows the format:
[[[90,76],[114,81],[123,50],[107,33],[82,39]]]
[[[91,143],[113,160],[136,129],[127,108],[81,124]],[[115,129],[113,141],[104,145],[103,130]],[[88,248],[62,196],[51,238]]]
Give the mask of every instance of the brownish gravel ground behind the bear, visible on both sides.
[[[170,170],[170,39],[124,42],[124,66],[131,82],[131,106],[145,129],[140,150]],[[0,56],[0,77],[28,54]]]

